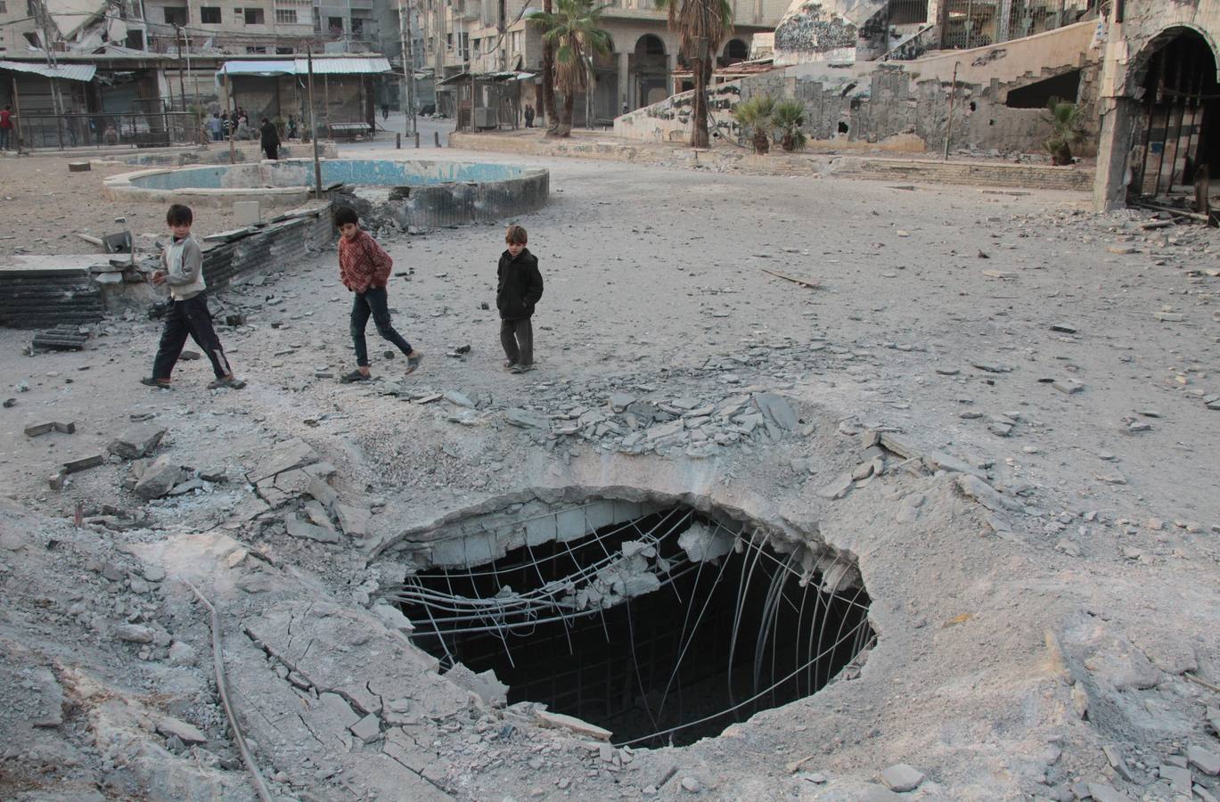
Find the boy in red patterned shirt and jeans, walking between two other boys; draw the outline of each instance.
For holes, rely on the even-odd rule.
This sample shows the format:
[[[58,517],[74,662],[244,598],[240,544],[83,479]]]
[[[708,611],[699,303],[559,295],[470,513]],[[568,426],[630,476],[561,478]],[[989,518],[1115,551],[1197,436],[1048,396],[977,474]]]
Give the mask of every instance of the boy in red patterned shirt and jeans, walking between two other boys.
[[[406,372],[415,372],[423,356],[394,331],[389,321],[386,284],[389,283],[394,260],[368,232],[360,228],[355,209],[344,206],[336,211],[334,225],[340,234],[339,280],[355,293],[351,302],[351,342],[356,348],[356,370],[345,375],[342,381],[362,382],[372,378],[368,374],[368,345],[365,343],[365,327],[370,315],[377,326],[377,333],[406,354]]]

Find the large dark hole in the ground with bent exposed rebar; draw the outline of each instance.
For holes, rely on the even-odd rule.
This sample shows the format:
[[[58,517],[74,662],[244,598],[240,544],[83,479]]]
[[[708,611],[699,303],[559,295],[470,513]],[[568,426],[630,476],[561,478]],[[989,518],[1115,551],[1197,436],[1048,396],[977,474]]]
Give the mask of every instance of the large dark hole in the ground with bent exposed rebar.
[[[716,736],[815,693],[872,642],[849,558],[691,507],[597,499],[475,531],[400,588],[415,643],[617,745]]]

